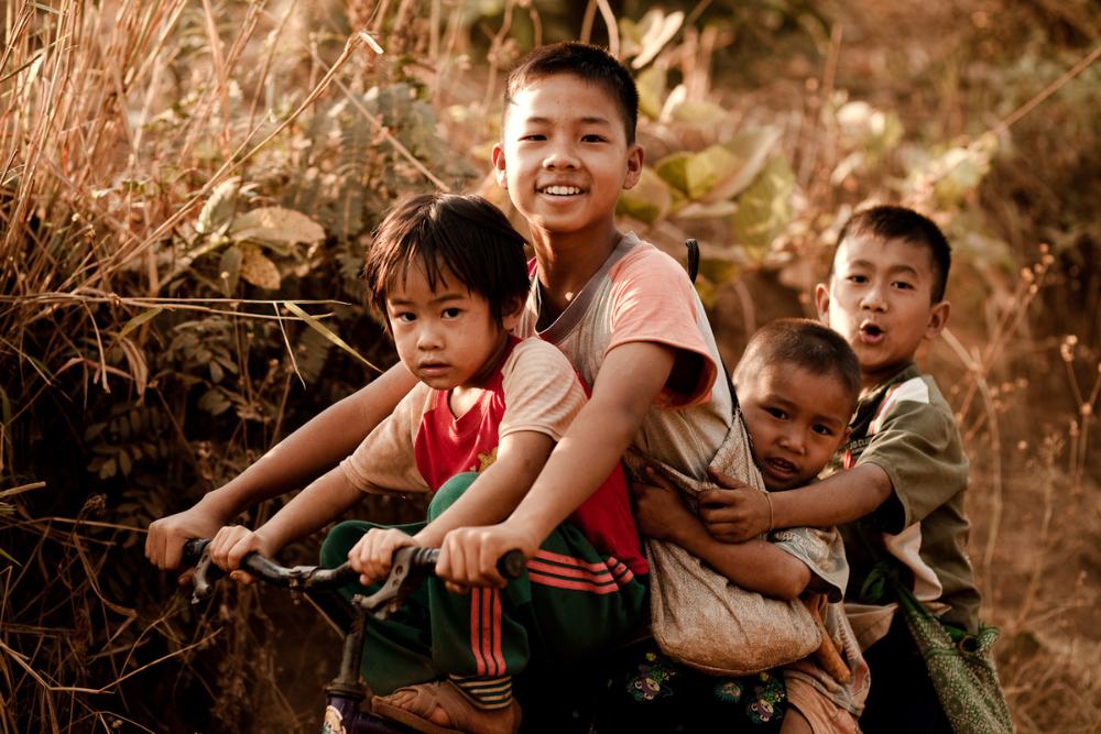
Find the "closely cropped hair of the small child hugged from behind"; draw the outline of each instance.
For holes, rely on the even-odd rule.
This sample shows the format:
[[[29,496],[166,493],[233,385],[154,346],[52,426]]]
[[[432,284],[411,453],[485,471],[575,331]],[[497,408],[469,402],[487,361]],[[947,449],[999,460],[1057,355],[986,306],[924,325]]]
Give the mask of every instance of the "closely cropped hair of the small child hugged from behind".
[[[857,407],[860,362],[852,347],[825,324],[805,318],[782,318],[757,329],[734,370],[734,382],[767,368],[797,366],[837,379]]]

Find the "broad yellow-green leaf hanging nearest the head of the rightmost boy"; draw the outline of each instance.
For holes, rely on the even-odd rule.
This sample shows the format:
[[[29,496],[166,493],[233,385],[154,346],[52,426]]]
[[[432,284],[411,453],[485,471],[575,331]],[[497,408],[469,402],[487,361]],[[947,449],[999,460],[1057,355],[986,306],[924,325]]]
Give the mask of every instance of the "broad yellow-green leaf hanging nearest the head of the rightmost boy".
[[[750,260],[760,263],[768,247],[792,221],[792,191],[795,174],[781,156],[774,157],[738,198],[731,217],[734,238]]]

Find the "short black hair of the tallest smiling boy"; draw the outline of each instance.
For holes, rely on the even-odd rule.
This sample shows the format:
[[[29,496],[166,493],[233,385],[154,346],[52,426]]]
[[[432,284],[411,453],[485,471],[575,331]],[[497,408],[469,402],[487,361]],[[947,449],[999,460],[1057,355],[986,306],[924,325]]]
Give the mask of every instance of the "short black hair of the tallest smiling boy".
[[[580,41],[538,46],[521,58],[504,85],[503,116],[508,117],[509,106],[522,89],[537,79],[560,74],[571,74],[601,87],[623,116],[628,145],[634,144],[634,130],[639,124],[639,89],[631,73],[606,50]]]

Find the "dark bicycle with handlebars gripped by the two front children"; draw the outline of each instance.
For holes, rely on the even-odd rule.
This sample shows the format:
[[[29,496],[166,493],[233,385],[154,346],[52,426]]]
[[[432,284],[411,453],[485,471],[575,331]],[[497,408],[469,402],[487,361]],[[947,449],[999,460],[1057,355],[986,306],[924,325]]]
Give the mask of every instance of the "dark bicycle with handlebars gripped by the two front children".
[[[215,582],[224,571],[207,555],[209,539],[188,540],[184,561],[195,565],[192,578],[192,603],[208,599]],[[404,734],[412,730],[360,709],[367,697],[359,669],[363,656],[363,628],[368,614],[385,618],[396,612],[404,599],[428,576],[435,573],[439,549],[405,547],[394,552],[390,574],[379,590],[370,595],[356,594],[349,601],[337,589],[359,577],[346,562],[334,569],[319,566],[280,566],[257,552],[241,561],[241,568],[271,585],[288,589],[307,596],[337,629],[344,633],[339,671],[325,687],[325,716],[321,734]],[[519,579],[526,561],[519,550],[505,554],[498,561],[498,571],[505,579]]]

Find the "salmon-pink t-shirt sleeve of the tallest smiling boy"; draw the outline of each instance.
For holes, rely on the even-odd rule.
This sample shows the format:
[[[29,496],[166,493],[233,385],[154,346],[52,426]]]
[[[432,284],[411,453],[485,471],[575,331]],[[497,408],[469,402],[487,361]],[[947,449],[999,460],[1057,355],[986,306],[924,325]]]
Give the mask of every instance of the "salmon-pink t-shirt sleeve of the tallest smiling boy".
[[[704,339],[707,315],[691,281],[675,260],[661,251],[624,258],[612,269],[611,351],[632,341],[652,341],[678,352],[676,386],[667,384],[657,397],[661,407],[706,403],[718,375],[716,359]],[[606,352],[607,353],[607,352]]]

